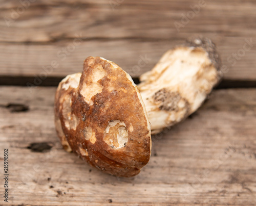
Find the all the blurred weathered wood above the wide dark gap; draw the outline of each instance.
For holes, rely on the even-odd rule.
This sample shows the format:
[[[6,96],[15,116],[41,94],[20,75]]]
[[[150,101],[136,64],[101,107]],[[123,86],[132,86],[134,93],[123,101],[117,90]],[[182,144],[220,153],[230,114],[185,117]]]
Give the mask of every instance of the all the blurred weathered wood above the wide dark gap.
[[[256,2],[205,0],[193,17],[190,6],[199,2],[34,1],[23,10],[19,1],[1,0],[0,76],[39,75],[42,66],[55,60],[59,65],[48,76],[62,77],[81,71],[86,57],[102,56],[136,77],[151,69],[167,49],[199,35],[217,43],[227,67],[225,79],[256,80]],[[15,16],[17,9],[20,14]],[[178,32],[174,23],[181,22],[183,14],[192,17]],[[7,18],[12,19],[9,27]],[[77,35],[81,41],[73,47]],[[246,39],[253,43],[245,50]],[[70,52],[65,56],[62,49]],[[236,60],[232,54],[240,57]],[[138,68],[140,56],[150,60]]]

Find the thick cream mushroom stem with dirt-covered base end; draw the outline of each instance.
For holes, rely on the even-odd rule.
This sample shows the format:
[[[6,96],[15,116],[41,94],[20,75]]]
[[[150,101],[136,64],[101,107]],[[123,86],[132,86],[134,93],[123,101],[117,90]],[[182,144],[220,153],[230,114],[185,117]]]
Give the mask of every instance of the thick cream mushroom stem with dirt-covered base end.
[[[219,82],[220,58],[211,40],[194,39],[168,50],[156,66],[140,76],[138,89],[152,134],[195,112]]]

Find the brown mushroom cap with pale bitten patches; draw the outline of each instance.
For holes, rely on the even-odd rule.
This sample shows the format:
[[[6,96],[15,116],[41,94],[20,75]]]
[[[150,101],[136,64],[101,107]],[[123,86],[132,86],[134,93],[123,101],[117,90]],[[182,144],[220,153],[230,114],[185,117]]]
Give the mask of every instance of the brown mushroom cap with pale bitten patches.
[[[88,57],[55,95],[55,126],[63,147],[112,175],[137,175],[151,155],[145,106],[131,76],[115,63]]]

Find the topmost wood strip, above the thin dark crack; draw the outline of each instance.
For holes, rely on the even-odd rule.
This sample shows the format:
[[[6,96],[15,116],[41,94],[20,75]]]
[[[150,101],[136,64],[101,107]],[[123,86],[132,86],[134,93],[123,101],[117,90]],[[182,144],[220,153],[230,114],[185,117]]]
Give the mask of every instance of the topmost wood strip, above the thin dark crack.
[[[199,13],[180,29],[179,35],[174,22],[181,22],[182,14],[193,11],[190,6],[199,5],[198,1],[123,1],[114,10],[109,1],[66,0],[64,4],[62,1],[35,1],[9,27],[5,17],[12,18],[22,5],[18,1],[6,4],[9,6],[0,14],[1,25],[5,27],[0,39],[7,42],[48,42],[74,38],[74,32],[83,33],[85,38],[154,39],[179,38],[190,32],[250,37],[256,33],[253,0],[232,1],[232,4],[227,0],[205,1]]]

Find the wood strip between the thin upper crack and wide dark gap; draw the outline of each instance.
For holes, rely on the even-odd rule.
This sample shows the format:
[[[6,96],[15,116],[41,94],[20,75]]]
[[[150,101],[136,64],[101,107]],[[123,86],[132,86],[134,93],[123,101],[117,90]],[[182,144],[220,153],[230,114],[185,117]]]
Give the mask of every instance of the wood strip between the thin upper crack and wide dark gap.
[[[241,43],[244,41],[243,38],[239,39],[240,44],[236,44],[236,41],[238,41],[238,38],[226,38],[226,42],[230,46],[219,46],[223,65],[226,66],[226,68],[223,67],[224,77],[231,80],[255,80],[255,69],[251,60],[256,61],[254,58],[256,47],[255,50],[253,47],[252,50],[248,51],[246,56],[241,61],[237,61],[234,67],[231,65],[234,62],[227,62],[233,51],[243,47]],[[181,40],[160,42],[93,40],[80,42],[77,46],[74,46],[73,41],[65,41],[61,45],[59,43],[48,45],[3,44],[0,45],[0,55],[2,57],[0,74],[38,76],[40,73],[45,72],[44,68],[49,67],[52,61],[56,61],[58,67],[50,69],[47,75],[64,77],[71,73],[81,72],[82,63],[86,57],[101,56],[114,61],[125,71],[136,77],[152,69],[166,50],[182,42]],[[67,48],[72,48],[72,51],[67,51]],[[141,59],[146,59],[143,66],[139,66]],[[240,78],[237,77],[238,73]]]

